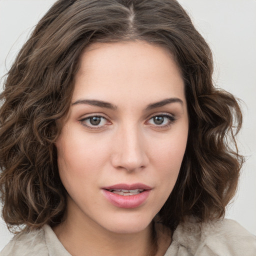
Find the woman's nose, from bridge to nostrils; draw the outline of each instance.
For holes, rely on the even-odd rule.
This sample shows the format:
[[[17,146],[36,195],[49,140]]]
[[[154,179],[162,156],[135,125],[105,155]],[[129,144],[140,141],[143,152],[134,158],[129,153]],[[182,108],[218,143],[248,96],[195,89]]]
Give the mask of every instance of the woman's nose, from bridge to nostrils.
[[[121,128],[112,146],[111,163],[115,168],[136,171],[147,166],[146,141],[138,127]]]

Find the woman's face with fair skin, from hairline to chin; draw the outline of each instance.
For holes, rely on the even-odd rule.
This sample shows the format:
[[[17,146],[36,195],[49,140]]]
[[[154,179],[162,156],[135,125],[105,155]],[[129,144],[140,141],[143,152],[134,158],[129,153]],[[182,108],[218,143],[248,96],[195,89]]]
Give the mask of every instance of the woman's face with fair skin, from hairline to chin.
[[[67,220],[117,233],[148,227],[176,182],[187,133],[184,83],[166,49],[91,44],[56,142]]]

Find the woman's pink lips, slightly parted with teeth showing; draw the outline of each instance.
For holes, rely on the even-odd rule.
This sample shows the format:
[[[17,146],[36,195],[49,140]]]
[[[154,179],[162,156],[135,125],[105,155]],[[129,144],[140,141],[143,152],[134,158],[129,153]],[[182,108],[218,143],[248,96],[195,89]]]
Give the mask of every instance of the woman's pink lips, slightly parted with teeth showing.
[[[114,206],[120,208],[136,208],[147,199],[151,187],[142,184],[115,184],[102,187],[105,198]]]

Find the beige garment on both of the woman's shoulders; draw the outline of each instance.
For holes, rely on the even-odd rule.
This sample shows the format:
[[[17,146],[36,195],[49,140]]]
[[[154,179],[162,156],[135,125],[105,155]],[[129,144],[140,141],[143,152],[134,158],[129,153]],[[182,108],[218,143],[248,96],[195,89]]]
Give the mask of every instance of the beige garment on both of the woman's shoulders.
[[[256,256],[256,236],[230,219],[179,224],[163,256]],[[21,232],[3,248],[0,256],[71,256],[50,226]]]

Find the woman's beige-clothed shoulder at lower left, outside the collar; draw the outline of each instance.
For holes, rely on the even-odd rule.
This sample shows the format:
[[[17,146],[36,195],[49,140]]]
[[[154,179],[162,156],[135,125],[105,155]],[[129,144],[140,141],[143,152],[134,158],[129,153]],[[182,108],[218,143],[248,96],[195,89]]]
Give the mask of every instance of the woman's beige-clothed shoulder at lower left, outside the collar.
[[[14,235],[0,256],[48,256],[43,229],[22,231]]]

